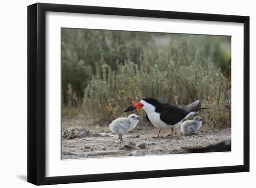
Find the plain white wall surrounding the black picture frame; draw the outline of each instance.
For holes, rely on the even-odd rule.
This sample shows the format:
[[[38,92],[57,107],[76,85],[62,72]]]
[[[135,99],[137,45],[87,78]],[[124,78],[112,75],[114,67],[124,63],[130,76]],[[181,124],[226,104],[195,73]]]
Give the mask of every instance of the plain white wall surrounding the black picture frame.
[[[32,187],[27,176],[27,6],[37,1],[2,1],[0,11],[0,185],[3,188]],[[256,11],[253,0],[42,0],[46,3],[127,7],[181,12],[217,13],[250,16],[250,132],[256,132],[252,121],[256,113]],[[242,100],[242,99],[241,99]],[[242,125],[241,125],[242,128]],[[54,185],[51,187],[113,187],[146,186],[216,188],[254,187],[256,177],[256,136],[250,134],[250,172],[155,178],[128,181],[105,181]],[[172,161],[170,161],[172,162]]]

